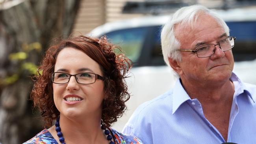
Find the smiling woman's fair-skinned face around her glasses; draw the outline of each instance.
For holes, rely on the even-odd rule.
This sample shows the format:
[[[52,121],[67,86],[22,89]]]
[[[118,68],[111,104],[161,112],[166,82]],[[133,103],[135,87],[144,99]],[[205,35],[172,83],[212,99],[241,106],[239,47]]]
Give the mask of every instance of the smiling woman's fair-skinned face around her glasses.
[[[57,56],[54,72],[78,74],[91,72],[102,76],[100,65],[81,50],[67,47]],[[97,79],[95,83],[83,85],[76,82],[74,76],[69,83],[53,83],[54,103],[59,112],[66,117],[77,116],[101,117],[104,99],[104,82]]]

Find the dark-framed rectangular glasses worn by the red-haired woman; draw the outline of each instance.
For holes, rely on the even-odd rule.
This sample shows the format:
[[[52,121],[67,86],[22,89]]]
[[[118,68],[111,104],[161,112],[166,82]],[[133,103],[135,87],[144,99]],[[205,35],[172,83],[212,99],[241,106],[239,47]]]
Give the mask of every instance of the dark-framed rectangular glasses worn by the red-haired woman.
[[[104,77],[91,72],[83,72],[79,74],[67,74],[64,72],[54,72],[51,74],[51,79],[53,83],[65,84],[69,82],[71,76],[74,76],[76,78],[77,83],[84,84],[84,85],[95,83],[97,79],[104,80]]]

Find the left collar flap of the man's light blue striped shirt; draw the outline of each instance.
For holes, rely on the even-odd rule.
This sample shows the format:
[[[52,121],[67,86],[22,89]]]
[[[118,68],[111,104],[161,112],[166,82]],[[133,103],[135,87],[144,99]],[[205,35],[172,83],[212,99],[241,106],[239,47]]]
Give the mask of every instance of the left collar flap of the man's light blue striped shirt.
[[[182,103],[186,102],[187,100],[191,100],[180,81],[180,79],[177,79],[173,87],[173,114]]]

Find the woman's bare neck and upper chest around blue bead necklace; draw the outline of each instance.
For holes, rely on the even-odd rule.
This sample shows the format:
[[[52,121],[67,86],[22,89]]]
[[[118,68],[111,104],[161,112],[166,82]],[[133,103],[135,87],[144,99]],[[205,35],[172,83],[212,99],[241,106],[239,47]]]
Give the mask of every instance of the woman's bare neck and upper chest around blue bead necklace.
[[[59,125],[65,138],[65,143],[67,144],[109,144],[109,141],[100,128],[100,118],[90,117],[72,120],[60,115]],[[49,131],[56,141],[59,142],[55,126],[52,126]]]

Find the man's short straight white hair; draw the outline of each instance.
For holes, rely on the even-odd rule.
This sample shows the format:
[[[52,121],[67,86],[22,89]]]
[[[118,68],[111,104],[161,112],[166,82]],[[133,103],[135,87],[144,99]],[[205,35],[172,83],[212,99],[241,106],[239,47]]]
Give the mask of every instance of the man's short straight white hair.
[[[202,13],[215,18],[217,22],[223,26],[226,34],[229,35],[229,28],[226,22],[214,11],[200,5],[182,7],[171,16],[161,31],[163,59],[167,65],[169,65],[168,57],[177,61],[182,60],[180,52],[177,51],[181,44],[175,37],[174,26],[180,24],[180,26],[191,26],[193,28],[198,16]]]

